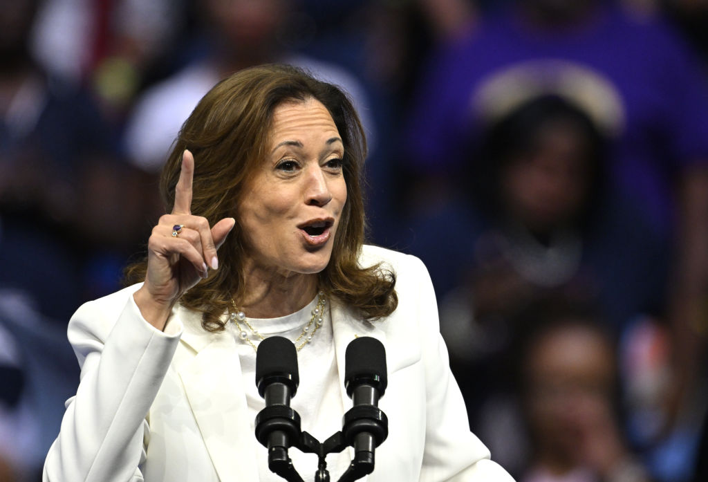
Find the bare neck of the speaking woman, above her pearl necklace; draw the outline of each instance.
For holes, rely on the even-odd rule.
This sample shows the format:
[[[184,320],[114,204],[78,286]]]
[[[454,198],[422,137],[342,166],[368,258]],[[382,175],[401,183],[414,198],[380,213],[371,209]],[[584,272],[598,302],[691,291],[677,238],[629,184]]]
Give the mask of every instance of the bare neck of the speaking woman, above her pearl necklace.
[[[317,293],[317,275],[246,270],[246,296],[237,306],[249,318],[277,318],[295,313]]]

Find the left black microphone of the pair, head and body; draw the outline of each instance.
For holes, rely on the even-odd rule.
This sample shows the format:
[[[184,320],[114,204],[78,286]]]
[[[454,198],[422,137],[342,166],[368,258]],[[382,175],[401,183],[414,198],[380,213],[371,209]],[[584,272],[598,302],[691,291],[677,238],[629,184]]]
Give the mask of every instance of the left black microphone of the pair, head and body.
[[[300,437],[300,416],[290,408],[299,384],[297,351],[287,338],[265,338],[256,350],[256,386],[265,408],[256,415],[256,439],[268,448],[271,471],[292,471],[287,449]]]

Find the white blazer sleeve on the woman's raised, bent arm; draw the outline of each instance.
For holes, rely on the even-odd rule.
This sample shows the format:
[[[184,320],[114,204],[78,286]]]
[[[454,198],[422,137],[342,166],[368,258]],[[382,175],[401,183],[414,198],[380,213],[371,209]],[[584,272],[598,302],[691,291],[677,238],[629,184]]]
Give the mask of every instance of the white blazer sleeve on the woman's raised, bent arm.
[[[142,318],[134,291],[84,304],[69,321],[81,378],[47,454],[43,482],[143,480],[138,466],[149,437],[146,417],[181,324],[168,323],[165,333],[156,330]]]

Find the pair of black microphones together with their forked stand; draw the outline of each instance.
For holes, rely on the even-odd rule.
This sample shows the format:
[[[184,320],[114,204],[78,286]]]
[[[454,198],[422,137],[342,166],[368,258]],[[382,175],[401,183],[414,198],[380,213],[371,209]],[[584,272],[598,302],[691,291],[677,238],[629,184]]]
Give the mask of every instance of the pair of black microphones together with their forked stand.
[[[269,343],[281,352],[284,350],[285,355],[295,359],[266,356],[261,377],[258,374],[261,366],[259,360],[263,359],[258,357],[260,351],[256,353],[256,385],[258,393],[265,398],[265,408],[256,415],[256,439],[268,448],[268,469],[287,482],[304,482],[287,454],[287,449],[295,447],[303,453],[317,455],[314,481],[330,482],[325,460],[327,454],[342,452],[350,446],[354,447],[354,457],[338,482],[354,482],[371,474],[374,471],[375,449],[389,435],[388,418],[377,406],[387,384],[383,345],[367,337],[358,338],[348,345],[345,385],[354,406],[344,414],[342,430],[321,443],[313,435],[300,430],[300,415],[290,408],[290,394],[292,391],[295,395],[299,381],[297,352],[285,338],[268,338],[263,343]],[[367,362],[352,364],[350,358]],[[353,365],[351,369],[350,364]],[[286,366],[285,369],[282,365]]]

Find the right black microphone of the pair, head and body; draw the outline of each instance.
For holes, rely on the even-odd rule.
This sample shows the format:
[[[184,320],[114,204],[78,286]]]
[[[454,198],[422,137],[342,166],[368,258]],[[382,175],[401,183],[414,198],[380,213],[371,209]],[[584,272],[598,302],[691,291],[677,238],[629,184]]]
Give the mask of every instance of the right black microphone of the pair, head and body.
[[[344,415],[343,433],[354,447],[357,475],[374,470],[374,451],[389,435],[386,414],[378,408],[388,383],[386,350],[376,338],[360,337],[347,346],[344,386],[353,407]],[[343,480],[343,479],[340,479]]]

